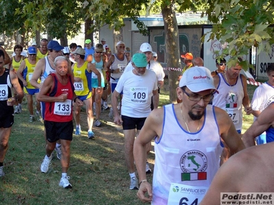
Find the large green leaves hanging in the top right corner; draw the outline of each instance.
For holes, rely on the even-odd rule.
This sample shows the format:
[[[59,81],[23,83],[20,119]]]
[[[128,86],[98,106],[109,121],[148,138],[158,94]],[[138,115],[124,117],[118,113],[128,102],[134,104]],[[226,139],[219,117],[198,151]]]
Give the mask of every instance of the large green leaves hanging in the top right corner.
[[[216,51],[219,58],[229,55],[228,65],[234,65],[237,57],[247,55],[252,46],[258,47],[258,53],[269,51],[273,44],[273,2],[268,0],[218,0],[207,1],[208,18],[213,26],[210,39],[216,38],[223,44],[222,51]],[[242,68],[250,67],[247,62]]]

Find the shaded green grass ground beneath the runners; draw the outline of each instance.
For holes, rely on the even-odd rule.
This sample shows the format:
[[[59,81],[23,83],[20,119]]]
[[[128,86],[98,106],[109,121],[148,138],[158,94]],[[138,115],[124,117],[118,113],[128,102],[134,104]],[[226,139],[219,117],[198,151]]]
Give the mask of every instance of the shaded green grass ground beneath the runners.
[[[249,85],[250,96],[255,88]],[[169,91],[162,89],[160,105],[168,103]],[[136,197],[137,191],[129,190],[121,127],[108,119],[107,111],[102,113],[103,126],[93,129],[94,140],[87,137],[82,111],[83,135],[73,135],[71,143],[68,175],[73,189],[66,190],[58,186],[61,167],[56,157],[47,174],[40,172],[45,156],[43,124],[28,122],[26,107],[23,105],[23,113],[15,115],[4,161],[6,176],[0,178],[0,204],[142,204]],[[252,116],[244,115],[244,129],[252,122]],[[154,163],[153,152],[148,160]],[[148,180],[151,182],[152,174]]]

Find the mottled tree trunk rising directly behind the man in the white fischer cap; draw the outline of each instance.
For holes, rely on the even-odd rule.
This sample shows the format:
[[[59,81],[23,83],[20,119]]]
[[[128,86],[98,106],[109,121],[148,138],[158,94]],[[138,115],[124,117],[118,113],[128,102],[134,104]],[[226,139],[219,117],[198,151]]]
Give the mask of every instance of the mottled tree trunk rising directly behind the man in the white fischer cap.
[[[173,2],[173,1],[172,1]],[[174,3],[162,6],[162,16],[164,18],[164,32],[166,33],[166,66],[168,68],[181,68],[179,56],[179,30],[175,16]],[[169,70],[169,100],[176,102],[177,78],[182,72]]]

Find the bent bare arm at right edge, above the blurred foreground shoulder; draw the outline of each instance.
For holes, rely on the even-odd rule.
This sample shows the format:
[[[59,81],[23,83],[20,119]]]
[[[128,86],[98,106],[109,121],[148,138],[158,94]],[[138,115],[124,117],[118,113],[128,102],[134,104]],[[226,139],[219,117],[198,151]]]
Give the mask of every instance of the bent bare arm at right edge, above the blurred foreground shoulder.
[[[266,107],[262,113],[258,116],[257,120],[247,129],[244,135],[242,135],[242,140],[245,146],[255,146],[254,139],[258,135],[266,131],[269,126],[274,124],[274,104],[272,103],[269,107]]]

